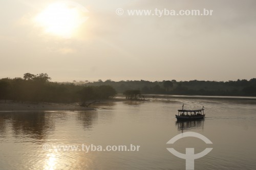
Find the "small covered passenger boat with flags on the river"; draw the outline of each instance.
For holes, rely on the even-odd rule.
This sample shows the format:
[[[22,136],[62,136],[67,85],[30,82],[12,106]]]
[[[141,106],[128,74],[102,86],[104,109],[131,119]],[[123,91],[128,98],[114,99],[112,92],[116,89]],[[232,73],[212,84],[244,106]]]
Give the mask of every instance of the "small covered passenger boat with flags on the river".
[[[205,117],[204,106],[202,109],[197,110],[185,110],[183,108],[184,104],[182,105],[182,109],[178,110],[178,115],[176,115],[178,121],[198,120]]]

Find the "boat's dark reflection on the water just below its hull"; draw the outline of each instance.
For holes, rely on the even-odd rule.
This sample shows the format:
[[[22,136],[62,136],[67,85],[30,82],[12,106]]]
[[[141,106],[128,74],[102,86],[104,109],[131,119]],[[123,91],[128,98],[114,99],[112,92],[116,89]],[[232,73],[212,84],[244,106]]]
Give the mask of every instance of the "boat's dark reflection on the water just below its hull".
[[[178,131],[190,130],[195,128],[204,129],[204,119],[202,120],[190,120],[190,121],[177,121],[176,126]]]

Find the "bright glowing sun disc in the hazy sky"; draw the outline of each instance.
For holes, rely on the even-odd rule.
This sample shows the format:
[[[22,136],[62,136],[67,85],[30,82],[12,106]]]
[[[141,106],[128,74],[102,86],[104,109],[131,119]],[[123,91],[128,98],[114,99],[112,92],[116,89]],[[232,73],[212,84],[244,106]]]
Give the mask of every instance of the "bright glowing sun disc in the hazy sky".
[[[68,1],[49,5],[35,17],[35,22],[45,33],[63,38],[72,37],[78,27],[88,19],[86,8]]]

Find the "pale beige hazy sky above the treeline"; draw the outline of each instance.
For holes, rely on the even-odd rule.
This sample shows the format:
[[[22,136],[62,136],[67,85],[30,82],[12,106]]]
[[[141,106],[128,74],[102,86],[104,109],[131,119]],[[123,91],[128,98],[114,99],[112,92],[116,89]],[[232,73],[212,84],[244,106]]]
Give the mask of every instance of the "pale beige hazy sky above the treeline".
[[[78,14],[69,1],[68,10],[56,8],[59,16],[51,8],[56,1],[0,1],[0,78],[26,72],[47,72],[53,81],[256,78],[255,0],[72,2]],[[214,12],[118,16],[117,8]],[[89,18],[79,22],[78,15]]]

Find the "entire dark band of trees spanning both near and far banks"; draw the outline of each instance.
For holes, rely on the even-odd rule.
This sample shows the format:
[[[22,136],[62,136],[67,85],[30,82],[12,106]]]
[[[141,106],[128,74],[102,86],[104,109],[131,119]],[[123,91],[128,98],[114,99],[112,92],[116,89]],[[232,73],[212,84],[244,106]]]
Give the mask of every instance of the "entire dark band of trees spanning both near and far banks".
[[[141,94],[177,95],[230,95],[256,96],[256,79],[227,82],[217,81],[111,81],[58,83],[51,82],[48,74],[24,74],[23,78],[0,79],[0,100],[31,102],[90,102],[111,99],[122,93],[128,99],[137,99]],[[141,98],[141,97],[139,97]]]

